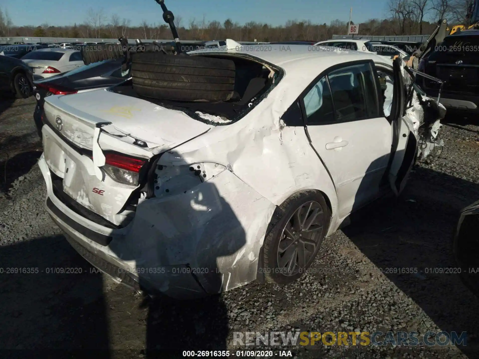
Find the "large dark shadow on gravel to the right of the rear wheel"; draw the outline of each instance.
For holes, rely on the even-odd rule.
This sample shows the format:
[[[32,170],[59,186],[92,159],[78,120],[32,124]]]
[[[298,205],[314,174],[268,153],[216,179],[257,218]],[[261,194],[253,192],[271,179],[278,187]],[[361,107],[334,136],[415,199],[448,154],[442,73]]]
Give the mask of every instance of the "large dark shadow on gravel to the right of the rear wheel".
[[[343,232],[442,330],[477,335],[479,299],[458,274],[431,272],[456,267],[451,242],[458,212],[478,199],[479,184],[416,168],[398,200],[383,200],[359,211]],[[419,273],[392,274],[388,268],[417,268]],[[478,344],[473,337],[467,346],[458,347],[477,358]]]

